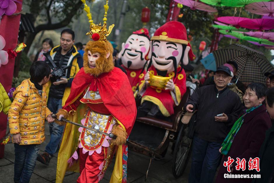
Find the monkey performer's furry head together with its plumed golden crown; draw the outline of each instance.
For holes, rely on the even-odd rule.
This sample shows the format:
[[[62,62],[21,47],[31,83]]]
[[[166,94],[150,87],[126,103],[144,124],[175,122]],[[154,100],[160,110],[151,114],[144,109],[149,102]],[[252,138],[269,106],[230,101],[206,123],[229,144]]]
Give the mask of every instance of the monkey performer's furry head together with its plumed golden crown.
[[[90,23],[90,31],[87,32],[86,35],[89,35],[92,39],[92,41],[89,41],[85,47],[85,53],[83,55],[84,71],[87,74],[99,76],[101,73],[110,72],[114,67],[112,57],[113,47],[107,40],[114,24],[110,25],[107,29],[106,17],[109,8],[108,0],[106,0],[106,4],[104,5],[105,14],[103,18],[104,23],[102,26],[101,23],[98,25],[93,23],[89,6],[87,6],[85,0],[81,1],[85,5],[84,10],[87,12],[87,17],[89,18]]]

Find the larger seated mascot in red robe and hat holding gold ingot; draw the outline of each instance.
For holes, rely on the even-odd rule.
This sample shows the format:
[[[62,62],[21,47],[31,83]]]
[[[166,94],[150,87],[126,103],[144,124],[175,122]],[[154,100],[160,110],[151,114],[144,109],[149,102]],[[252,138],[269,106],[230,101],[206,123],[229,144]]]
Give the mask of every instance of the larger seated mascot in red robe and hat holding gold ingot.
[[[181,65],[188,64],[188,56],[191,60],[195,59],[185,26],[178,21],[170,21],[159,27],[151,38],[150,55],[149,69],[139,86],[142,100],[137,117],[169,117],[186,92],[186,75]],[[149,86],[155,76],[170,77],[165,88]]]

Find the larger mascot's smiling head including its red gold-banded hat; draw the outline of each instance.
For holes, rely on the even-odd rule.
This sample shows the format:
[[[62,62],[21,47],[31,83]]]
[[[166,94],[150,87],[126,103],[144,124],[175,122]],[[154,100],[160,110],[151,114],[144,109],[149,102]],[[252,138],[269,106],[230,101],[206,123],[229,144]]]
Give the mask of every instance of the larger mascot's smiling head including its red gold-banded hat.
[[[158,75],[165,76],[166,73],[173,71],[176,75],[179,65],[188,64],[188,56],[190,60],[195,59],[187,41],[187,30],[178,21],[169,21],[159,27],[151,40],[151,58],[148,68],[153,64]]]

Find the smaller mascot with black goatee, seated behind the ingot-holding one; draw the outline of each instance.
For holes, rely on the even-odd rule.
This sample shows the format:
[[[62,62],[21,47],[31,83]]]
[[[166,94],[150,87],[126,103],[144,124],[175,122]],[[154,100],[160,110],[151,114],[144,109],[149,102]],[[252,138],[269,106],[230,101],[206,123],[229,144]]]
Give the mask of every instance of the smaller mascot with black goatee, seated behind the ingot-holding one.
[[[121,66],[127,71],[127,77],[134,92],[145,76],[144,65],[148,60],[149,42],[150,37],[146,28],[136,30],[122,44],[122,50],[118,55],[122,61]]]

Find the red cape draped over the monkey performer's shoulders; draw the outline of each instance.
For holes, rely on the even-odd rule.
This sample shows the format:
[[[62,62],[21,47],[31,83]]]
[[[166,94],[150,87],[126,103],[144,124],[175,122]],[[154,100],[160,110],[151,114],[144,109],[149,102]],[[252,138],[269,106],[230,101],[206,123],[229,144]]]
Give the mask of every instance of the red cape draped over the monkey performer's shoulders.
[[[95,77],[81,68],[73,79],[71,93],[63,109],[71,105],[90,84],[96,83],[101,99],[110,113],[126,128],[129,135],[134,125],[137,108],[127,75],[119,68]]]

